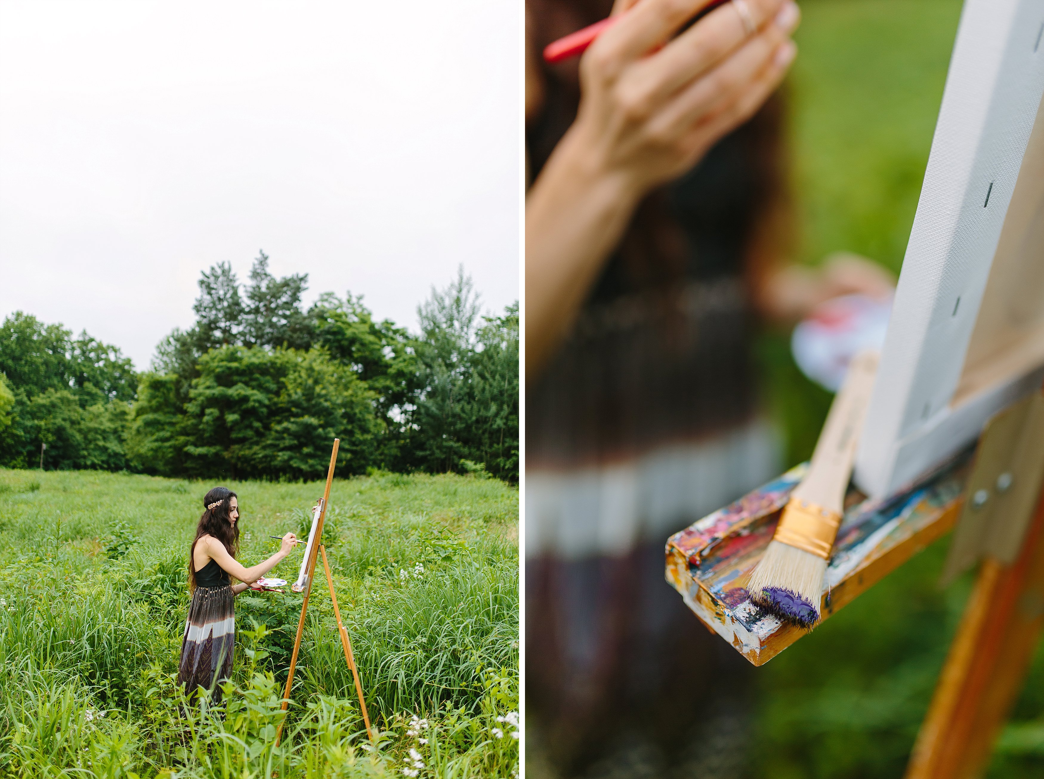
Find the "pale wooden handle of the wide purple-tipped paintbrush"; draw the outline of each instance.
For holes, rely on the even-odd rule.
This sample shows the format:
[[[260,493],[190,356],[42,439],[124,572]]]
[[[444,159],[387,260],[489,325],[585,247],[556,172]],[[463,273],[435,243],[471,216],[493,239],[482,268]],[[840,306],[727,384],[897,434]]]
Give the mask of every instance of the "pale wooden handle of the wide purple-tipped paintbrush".
[[[808,474],[794,489],[792,497],[841,513],[859,433],[874,389],[878,357],[876,350],[868,350],[852,358],[845,383],[830,406],[815,444]]]

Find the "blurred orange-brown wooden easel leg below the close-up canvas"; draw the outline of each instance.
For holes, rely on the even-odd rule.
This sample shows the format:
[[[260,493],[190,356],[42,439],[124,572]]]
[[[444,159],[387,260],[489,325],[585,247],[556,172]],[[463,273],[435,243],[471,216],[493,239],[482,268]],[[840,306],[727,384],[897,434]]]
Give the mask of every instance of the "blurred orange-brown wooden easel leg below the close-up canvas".
[[[979,569],[906,779],[970,779],[986,765],[1044,628],[1044,494],[1011,566]]]

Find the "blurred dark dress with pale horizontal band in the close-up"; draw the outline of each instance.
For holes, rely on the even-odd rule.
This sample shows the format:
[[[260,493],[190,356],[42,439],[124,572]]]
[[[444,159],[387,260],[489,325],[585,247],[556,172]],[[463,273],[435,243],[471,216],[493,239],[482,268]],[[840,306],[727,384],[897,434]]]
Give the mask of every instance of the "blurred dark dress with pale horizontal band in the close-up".
[[[579,103],[577,61],[539,52],[612,4],[526,0],[533,178]],[[750,768],[752,666],[664,581],[664,543],[779,472],[753,339],[757,283],[790,223],[782,118],[769,100],[648,193],[528,378],[526,750],[560,777]]]

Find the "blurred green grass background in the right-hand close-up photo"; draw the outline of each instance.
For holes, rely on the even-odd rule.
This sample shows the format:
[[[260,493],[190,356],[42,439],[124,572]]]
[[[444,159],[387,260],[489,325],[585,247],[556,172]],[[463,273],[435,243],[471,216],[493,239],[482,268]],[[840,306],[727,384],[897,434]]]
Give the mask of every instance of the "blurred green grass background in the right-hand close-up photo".
[[[898,273],[946,80],[958,0],[808,0],[789,78],[799,260],[846,250]],[[809,456],[830,396],[789,333],[760,340],[788,465]],[[971,587],[938,587],[949,537],[758,670],[758,775],[902,776]],[[1044,776],[1044,652],[989,777]]]

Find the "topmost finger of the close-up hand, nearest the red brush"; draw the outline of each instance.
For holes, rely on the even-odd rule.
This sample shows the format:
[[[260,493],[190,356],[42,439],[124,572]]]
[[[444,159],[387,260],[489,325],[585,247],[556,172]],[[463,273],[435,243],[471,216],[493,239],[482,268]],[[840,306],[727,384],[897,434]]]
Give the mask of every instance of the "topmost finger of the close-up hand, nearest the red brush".
[[[668,41],[711,0],[644,0],[591,44],[585,60],[614,72]],[[615,10],[615,8],[614,8]]]

